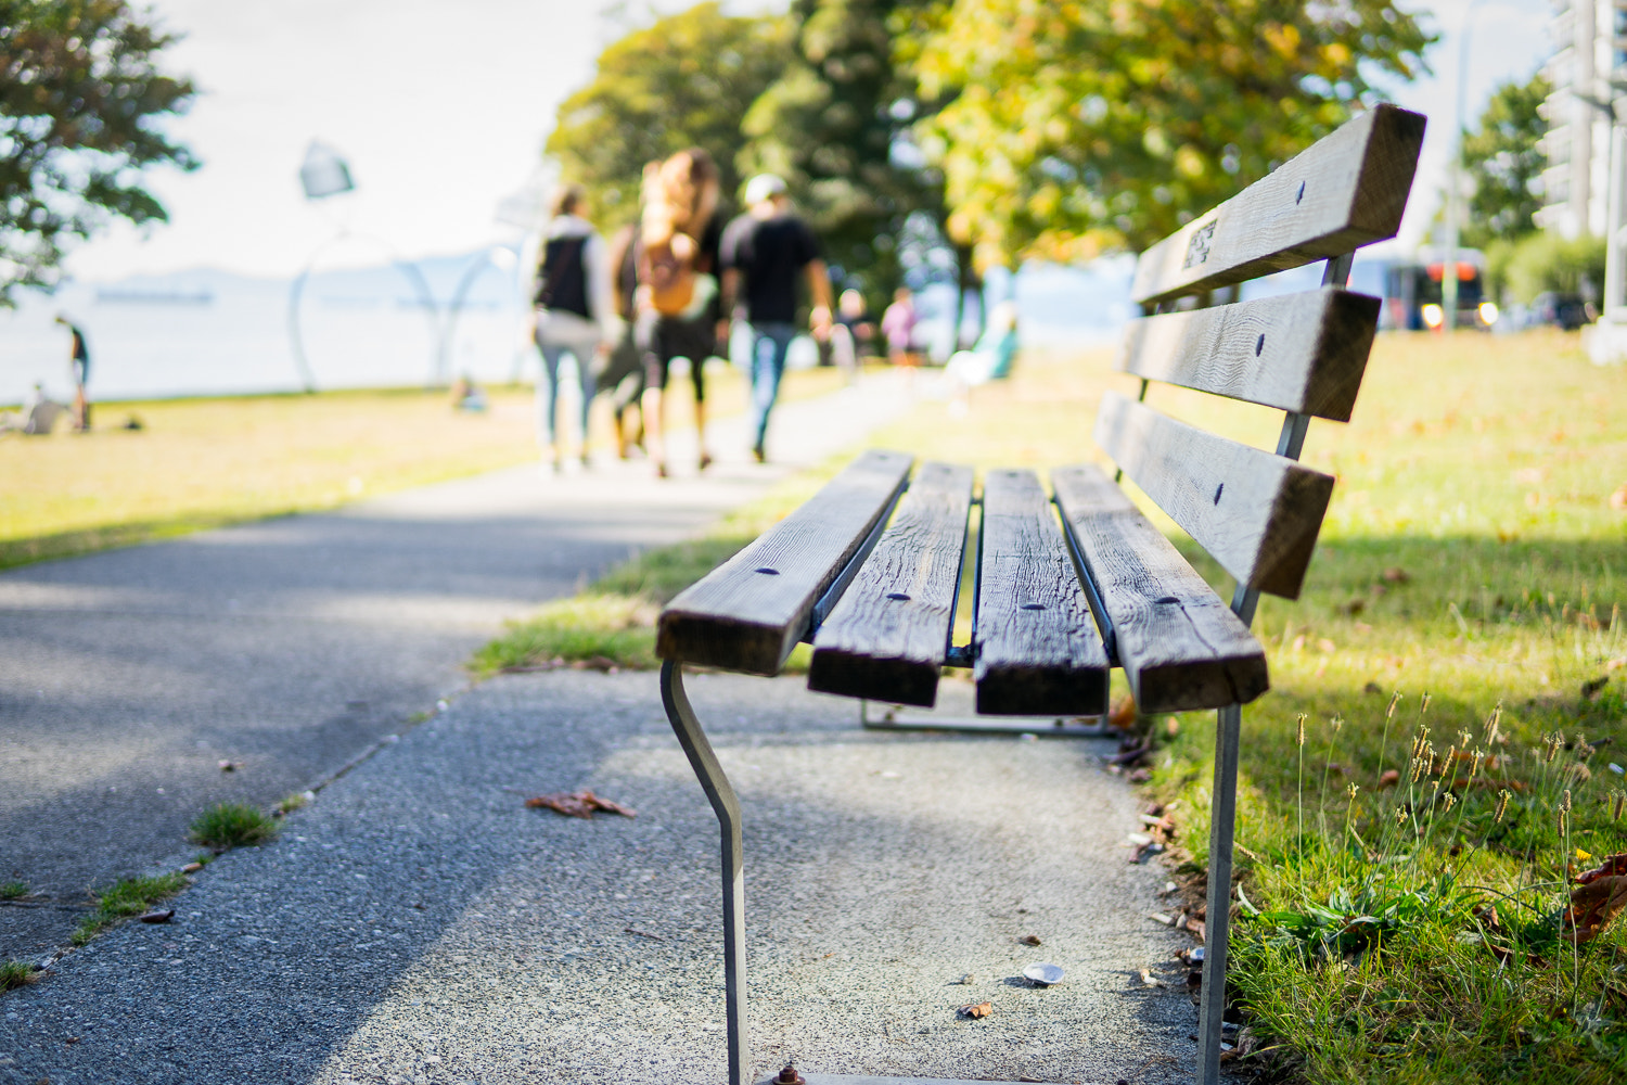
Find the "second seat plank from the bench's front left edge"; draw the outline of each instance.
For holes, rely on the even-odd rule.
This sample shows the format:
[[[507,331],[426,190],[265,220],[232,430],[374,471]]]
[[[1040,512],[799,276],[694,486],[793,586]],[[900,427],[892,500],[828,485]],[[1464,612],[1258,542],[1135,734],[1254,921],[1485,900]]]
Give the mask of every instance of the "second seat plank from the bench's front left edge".
[[[971,468],[923,464],[857,579],[814,634],[809,688],[931,708],[971,512]]]

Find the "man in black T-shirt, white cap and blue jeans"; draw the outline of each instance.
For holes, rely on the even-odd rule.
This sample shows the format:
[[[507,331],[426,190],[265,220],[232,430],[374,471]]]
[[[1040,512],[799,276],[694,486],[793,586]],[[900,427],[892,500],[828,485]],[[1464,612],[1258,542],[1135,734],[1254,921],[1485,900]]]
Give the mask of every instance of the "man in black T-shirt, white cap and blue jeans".
[[[792,213],[781,177],[752,177],[745,184],[745,207],[722,234],[724,317],[718,335],[727,337],[727,320],[744,299],[752,330],[752,455],[761,464],[768,415],[779,397],[786,351],[797,332],[797,280],[807,280],[814,303],[809,325],[814,338],[823,342],[830,337],[830,273],[814,231]]]

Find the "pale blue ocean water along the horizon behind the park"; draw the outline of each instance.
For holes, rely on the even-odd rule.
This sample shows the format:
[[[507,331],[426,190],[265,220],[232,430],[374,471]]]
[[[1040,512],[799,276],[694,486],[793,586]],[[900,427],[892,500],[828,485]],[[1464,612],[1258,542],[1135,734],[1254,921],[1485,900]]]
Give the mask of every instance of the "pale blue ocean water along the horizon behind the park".
[[[312,275],[301,291],[298,338],[314,386],[535,379],[524,285],[482,260],[482,254],[421,260],[421,280],[389,265]],[[1116,340],[1132,314],[1131,268],[1124,257],[1082,268],[1025,265],[992,273],[986,294],[991,304],[1017,301],[1023,343],[1093,346]],[[194,270],[23,294],[16,309],[0,309],[0,403],[23,402],[36,381],[52,399],[72,397],[70,338],[54,322],[59,312],[85,332],[93,402],[298,392],[304,377],[290,320],[291,285]],[[456,316],[454,298],[460,298]],[[918,304],[919,345],[944,361],[957,346],[955,291],[929,286]],[[962,340],[970,333],[965,329]],[[792,364],[812,359],[812,343],[797,343]]]

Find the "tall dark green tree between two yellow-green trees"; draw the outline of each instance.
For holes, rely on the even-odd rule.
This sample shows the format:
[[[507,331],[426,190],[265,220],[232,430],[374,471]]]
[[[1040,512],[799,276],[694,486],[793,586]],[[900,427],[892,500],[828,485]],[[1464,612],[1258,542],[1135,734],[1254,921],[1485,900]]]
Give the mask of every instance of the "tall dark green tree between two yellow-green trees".
[[[776,172],[846,285],[888,298],[913,270],[952,275],[942,249],[944,179],[914,146],[924,112],[898,60],[909,0],[796,0],[796,60],[742,120],[740,171]]]

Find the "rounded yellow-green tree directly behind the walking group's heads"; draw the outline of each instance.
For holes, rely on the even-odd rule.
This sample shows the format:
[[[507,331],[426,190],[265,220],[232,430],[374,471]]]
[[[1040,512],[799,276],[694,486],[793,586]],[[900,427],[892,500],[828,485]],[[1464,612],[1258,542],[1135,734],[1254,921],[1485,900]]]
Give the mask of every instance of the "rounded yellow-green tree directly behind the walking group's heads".
[[[718,161],[734,195],[740,117],[791,60],[786,20],[696,5],[607,47],[594,81],[560,106],[545,153],[587,189],[604,228],[636,218],[644,163],[687,146]]]

